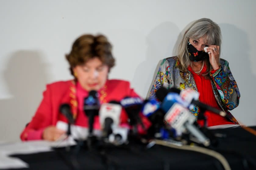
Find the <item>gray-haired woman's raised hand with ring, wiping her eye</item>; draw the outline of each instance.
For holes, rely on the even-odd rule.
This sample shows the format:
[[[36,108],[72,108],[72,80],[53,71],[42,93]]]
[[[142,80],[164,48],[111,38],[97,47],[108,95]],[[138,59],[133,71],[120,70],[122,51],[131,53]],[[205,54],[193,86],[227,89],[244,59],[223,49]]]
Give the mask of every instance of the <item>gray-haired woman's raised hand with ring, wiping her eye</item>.
[[[210,53],[209,53],[210,52]],[[213,70],[219,69],[219,46],[209,46],[207,48],[207,53],[209,54],[209,60],[212,65]]]

